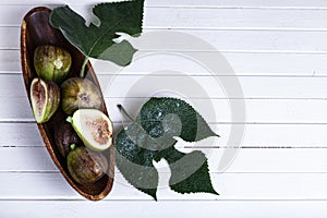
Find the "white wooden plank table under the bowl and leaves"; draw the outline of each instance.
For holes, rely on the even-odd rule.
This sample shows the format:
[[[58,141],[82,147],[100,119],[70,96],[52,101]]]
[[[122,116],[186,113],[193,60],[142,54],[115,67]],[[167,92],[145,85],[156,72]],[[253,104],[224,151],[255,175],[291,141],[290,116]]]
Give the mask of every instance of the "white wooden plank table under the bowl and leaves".
[[[210,149],[210,174],[220,195],[177,194],[160,180],[162,189],[154,202],[128,185],[118,172],[112,192],[97,203],[77,195],[52,164],[22,80],[20,25],[24,14],[36,5],[55,8],[64,2],[85,12],[98,1],[0,2],[0,217],[327,215],[326,0],[146,0],[145,33],[182,32],[207,41],[230,63],[243,89],[244,96],[226,97],[213,86],[209,99],[194,98],[210,100],[217,109],[218,119],[209,122],[221,140],[204,149]],[[148,61],[116,77],[102,63],[93,61],[100,69],[104,93],[112,78],[119,80],[122,88],[106,93],[116,124],[121,119],[116,105],[125,98],[120,92],[153,66],[182,68],[208,87],[214,80],[169,56],[162,59],[165,63]],[[226,105],[233,100],[245,101],[244,122],[231,121]],[[218,172],[222,149],[217,146],[227,142],[230,126],[242,124],[245,134],[241,150],[226,171]]]

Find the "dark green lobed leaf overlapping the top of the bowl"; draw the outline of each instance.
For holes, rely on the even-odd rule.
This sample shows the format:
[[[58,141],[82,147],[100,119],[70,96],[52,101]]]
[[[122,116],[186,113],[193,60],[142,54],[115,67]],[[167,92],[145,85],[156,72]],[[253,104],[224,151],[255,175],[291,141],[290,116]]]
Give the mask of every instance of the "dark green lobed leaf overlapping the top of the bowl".
[[[65,5],[52,10],[50,23],[86,57],[128,65],[136,50],[126,40],[117,44],[113,39],[119,37],[117,33],[140,36],[143,8],[144,0],[100,3],[93,9],[100,25],[86,26],[85,20]]]

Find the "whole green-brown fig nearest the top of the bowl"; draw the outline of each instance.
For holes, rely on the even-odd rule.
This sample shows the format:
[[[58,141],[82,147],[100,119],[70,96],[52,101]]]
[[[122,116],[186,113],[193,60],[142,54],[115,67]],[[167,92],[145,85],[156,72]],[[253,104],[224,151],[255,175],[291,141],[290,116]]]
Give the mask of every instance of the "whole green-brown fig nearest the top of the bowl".
[[[71,64],[72,57],[63,48],[43,45],[34,51],[34,68],[43,80],[60,84],[66,77]]]

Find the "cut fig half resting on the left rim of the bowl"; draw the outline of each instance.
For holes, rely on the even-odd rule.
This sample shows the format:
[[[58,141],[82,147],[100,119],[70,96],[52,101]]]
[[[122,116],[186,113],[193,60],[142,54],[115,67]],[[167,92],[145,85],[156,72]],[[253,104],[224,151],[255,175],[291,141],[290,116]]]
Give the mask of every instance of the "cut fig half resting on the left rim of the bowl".
[[[31,84],[31,104],[37,123],[47,122],[60,105],[60,89],[56,83],[34,78]]]

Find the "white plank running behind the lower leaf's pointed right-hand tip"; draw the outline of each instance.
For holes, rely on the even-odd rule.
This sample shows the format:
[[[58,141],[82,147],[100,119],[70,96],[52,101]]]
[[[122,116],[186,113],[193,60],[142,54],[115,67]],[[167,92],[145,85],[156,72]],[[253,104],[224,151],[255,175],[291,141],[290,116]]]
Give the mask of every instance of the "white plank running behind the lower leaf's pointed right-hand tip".
[[[240,124],[210,124],[220,135],[198,147],[227,147],[230,129]],[[114,123],[114,131],[121,123]],[[326,126],[320,124],[246,124],[243,148],[326,148]],[[44,147],[36,123],[0,123],[0,147]],[[257,134],[257,133],[261,134]]]

